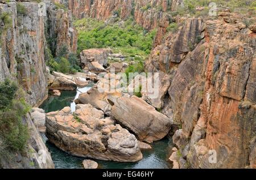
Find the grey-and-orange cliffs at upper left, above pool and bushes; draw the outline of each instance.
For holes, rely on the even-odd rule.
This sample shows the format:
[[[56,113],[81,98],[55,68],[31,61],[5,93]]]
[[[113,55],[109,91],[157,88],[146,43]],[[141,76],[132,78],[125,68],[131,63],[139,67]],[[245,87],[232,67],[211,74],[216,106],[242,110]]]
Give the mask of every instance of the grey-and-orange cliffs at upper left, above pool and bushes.
[[[39,105],[48,95],[47,46],[54,54],[59,53],[62,46],[73,53],[77,49],[77,33],[72,28],[71,14],[56,9],[49,1],[45,3],[47,16],[41,16],[38,3],[0,1],[1,14],[7,14],[10,19],[9,24],[3,23],[2,27],[9,26],[1,35],[0,80],[17,80],[27,92],[27,102],[33,106]],[[51,39],[48,45],[46,37]]]

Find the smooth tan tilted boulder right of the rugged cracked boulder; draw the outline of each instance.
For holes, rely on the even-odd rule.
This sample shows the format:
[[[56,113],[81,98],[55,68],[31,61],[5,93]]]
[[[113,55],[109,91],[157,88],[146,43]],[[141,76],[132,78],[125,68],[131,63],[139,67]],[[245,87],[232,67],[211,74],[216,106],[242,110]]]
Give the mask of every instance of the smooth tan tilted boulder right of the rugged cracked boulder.
[[[152,143],[160,140],[171,129],[172,119],[155,110],[146,101],[132,96],[109,99],[111,113],[118,123],[133,131],[139,140]]]

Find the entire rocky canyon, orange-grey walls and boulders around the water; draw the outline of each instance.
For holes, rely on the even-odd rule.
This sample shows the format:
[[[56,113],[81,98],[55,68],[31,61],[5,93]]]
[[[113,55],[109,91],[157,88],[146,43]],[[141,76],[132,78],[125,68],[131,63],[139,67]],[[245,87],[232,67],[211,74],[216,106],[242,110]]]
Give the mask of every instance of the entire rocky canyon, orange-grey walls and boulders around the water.
[[[174,16],[172,12],[184,6],[183,0],[43,3],[46,14],[42,15],[38,2],[0,0],[1,15],[11,19],[0,19],[0,82],[6,78],[17,82],[33,107],[47,99],[48,91],[71,91],[89,81],[96,83],[75,100],[75,112],[69,107],[40,112],[51,143],[75,156],[134,162],[143,158],[142,147],[167,136],[175,144],[170,157],[174,168],[256,168],[255,15],[220,7],[217,16]],[[51,55],[57,57],[63,46],[68,53],[77,53],[74,19],[109,24],[131,16],[145,31],[156,30],[143,68],[159,73],[157,98],[143,91],[143,84],[141,97],[121,88],[99,91],[109,81],[120,87],[110,67],[123,72],[130,65],[110,49],[85,49],[78,54],[83,72],[67,75],[47,67]],[[121,62],[109,63],[109,57]],[[27,147],[34,153],[18,152],[11,162],[0,155],[1,168],[54,168],[39,134],[37,123],[42,119],[36,121],[35,111],[23,118],[30,128]],[[140,147],[142,142],[146,145]],[[46,153],[46,162],[40,158],[40,149]],[[213,151],[214,163],[209,161]]]

